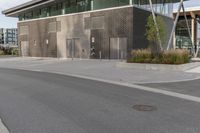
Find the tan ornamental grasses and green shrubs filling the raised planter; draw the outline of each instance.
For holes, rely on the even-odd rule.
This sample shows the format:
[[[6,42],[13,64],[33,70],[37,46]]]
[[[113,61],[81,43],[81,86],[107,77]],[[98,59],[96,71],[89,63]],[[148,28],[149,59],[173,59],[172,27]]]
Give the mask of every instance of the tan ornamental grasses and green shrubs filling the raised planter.
[[[133,50],[128,62],[154,64],[184,64],[189,62],[189,52],[183,49],[153,53],[149,49]]]

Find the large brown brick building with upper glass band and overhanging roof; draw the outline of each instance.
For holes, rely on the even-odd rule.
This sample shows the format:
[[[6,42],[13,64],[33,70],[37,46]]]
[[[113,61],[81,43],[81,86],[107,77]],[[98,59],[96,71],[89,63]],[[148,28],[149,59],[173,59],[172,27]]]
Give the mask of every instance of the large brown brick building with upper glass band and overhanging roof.
[[[19,18],[22,56],[126,59],[133,49],[148,47],[145,26],[152,9],[169,36],[173,3],[179,1],[33,0],[3,14]]]

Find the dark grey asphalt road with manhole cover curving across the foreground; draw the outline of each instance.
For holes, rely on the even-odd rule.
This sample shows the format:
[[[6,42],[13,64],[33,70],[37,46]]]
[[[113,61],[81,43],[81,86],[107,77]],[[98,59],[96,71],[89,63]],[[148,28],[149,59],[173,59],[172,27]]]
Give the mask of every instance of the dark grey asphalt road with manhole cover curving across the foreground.
[[[137,111],[134,105],[153,111]],[[200,103],[92,80],[0,69],[11,133],[199,133]]]

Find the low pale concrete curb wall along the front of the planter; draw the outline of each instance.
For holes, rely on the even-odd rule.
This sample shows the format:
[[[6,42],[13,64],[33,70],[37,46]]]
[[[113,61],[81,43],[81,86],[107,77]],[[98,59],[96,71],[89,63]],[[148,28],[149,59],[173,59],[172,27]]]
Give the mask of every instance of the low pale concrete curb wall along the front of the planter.
[[[126,63],[117,62],[116,67],[119,68],[132,68],[132,69],[142,69],[142,70],[154,70],[154,71],[180,71],[184,72],[189,69],[200,66],[200,62],[193,62],[182,65],[165,65],[165,64],[143,64],[143,63]]]

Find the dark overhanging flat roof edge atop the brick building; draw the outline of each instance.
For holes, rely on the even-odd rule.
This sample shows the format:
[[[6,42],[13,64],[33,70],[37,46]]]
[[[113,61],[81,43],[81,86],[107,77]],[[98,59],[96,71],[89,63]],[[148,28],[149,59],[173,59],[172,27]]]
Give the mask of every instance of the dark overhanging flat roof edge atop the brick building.
[[[50,4],[53,2],[58,2],[58,1],[62,1],[62,0],[32,0],[32,1],[26,2],[24,4],[18,5],[16,7],[4,10],[2,13],[9,17],[18,17],[18,14],[20,14],[22,12],[25,12],[25,11],[28,11],[28,10],[31,10],[33,8],[37,8],[40,6],[44,6],[46,4]],[[158,2],[162,3],[163,1],[165,1],[165,3],[180,2],[180,0],[152,0],[152,3],[158,3]],[[186,0],[184,0],[184,1],[186,1]],[[141,2],[141,4],[147,4],[147,3]]]

